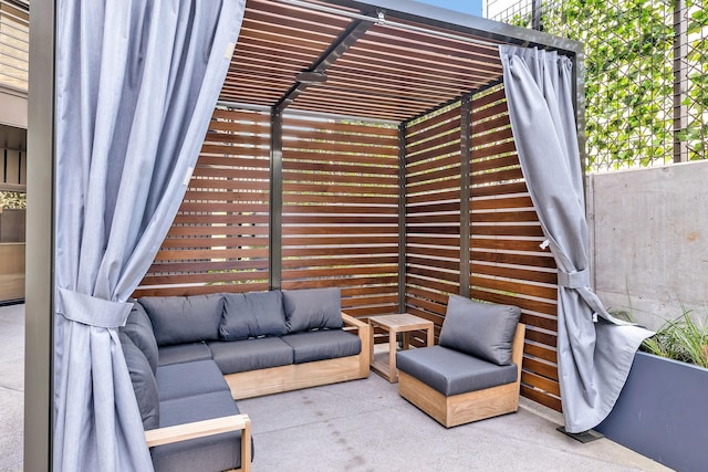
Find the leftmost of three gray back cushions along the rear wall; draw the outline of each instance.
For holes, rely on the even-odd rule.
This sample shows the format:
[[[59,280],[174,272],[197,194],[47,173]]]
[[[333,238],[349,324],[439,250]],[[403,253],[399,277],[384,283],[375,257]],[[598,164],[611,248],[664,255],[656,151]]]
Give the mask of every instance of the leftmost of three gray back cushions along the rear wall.
[[[158,346],[219,338],[222,294],[145,296],[138,302],[153,322]]]

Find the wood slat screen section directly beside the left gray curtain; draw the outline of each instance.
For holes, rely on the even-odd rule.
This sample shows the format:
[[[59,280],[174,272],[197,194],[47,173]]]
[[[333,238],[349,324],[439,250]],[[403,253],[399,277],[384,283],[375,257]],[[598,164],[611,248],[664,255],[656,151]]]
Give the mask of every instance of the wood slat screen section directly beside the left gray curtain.
[[[270,116],[216,109],[171,229],[135,296],[268,290]]]

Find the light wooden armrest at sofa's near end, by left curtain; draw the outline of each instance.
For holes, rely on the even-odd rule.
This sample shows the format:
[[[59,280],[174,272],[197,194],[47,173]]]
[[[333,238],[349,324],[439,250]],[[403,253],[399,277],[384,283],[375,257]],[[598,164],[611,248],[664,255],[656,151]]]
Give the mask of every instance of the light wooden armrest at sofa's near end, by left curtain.
[[[251,420],[248,415],[233,415],[205,421],[145,431],[147,447],[187,441],[229,431],[241,431],[241,471],[251,470]]]

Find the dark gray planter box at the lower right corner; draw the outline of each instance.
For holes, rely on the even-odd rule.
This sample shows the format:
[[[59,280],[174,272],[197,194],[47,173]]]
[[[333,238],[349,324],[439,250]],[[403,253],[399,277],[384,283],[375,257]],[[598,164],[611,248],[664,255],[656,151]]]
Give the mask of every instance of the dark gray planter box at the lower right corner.
[[[708,470],[708,369],[637,353],[595,430],[677,471]]]

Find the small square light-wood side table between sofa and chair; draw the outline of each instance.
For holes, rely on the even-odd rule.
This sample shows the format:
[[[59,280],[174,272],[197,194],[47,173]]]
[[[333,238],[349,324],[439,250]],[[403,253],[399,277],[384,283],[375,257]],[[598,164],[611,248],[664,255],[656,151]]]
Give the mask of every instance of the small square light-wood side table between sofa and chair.
[[[396,337],[398,333],[402,333],[403,348],[407,349],[409,346],[410,332],[427,331],[428,346],[433,346],[433,322],[420,318],[407,313],[399,313],[396,315],[379,315],[369,316],[368,324],[371,325],[371,365],[372,369],[381,374],[384,378],[387,378],[389,382],[398,381],[398,370],[396,369]],[[374,358],[374,328],[381,327],[385,332],[388,332],[388,364],[376,360]]]

